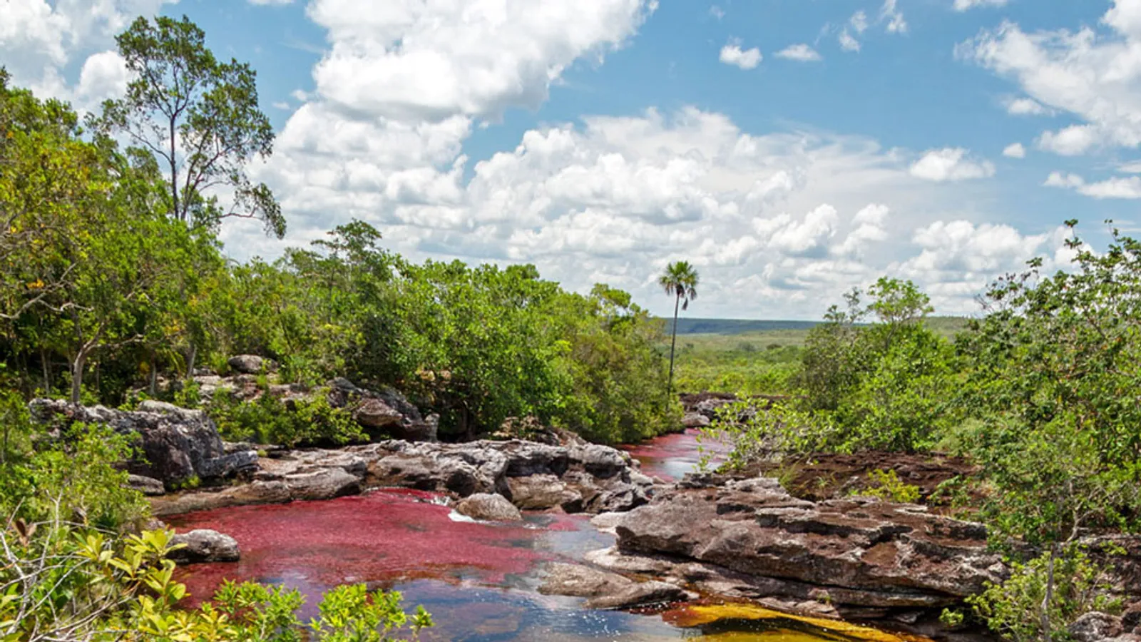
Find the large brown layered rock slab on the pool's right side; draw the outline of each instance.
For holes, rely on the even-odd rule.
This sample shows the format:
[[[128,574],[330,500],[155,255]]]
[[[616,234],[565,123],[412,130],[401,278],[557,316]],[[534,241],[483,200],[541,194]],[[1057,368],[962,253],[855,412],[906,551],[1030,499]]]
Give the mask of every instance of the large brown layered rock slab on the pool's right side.
[[[814,504],[764,478],[703,484],[713,481],[687,478],[628,513],[615,529],[620,551],[720,567],[733,583],[756,579],[756,592],[824,587],[855,607],[950,604],[1004,577],[981,524],[914,505]]]

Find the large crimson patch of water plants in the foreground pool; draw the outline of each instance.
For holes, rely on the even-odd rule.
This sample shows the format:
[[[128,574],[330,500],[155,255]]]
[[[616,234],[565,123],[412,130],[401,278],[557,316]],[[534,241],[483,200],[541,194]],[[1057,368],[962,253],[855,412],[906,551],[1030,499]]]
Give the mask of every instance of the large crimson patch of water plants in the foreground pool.
[[[233,536],[237,563],[180,569],[194,602],[222,579],[284,584],[316,597],[349,583],[472,579],[502,585],[555,557],[544,531],[575,531],[581,517],[551,515],[544,528],[454,521],[451,508],[419,491],[382,490],[327,501],[240,506],[180,515],[179,531],[213,529]]]

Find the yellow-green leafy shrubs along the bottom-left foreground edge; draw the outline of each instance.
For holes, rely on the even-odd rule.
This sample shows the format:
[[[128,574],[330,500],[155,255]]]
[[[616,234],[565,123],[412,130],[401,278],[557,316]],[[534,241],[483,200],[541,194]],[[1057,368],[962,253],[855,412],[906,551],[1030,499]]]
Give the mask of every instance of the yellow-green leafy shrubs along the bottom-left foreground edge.
[[[42,528],[37,528],[42,525]],[[213,600],[183,608],[186,586],[173,579],[169,531],[122,539],[60,522],[18,522],[0,531],[0,640],[147,642],[396,642],[393,635],[431,626],[411,617],[399,593],[341,586],[325,595],[307,625],[297,589],[224,583]]]

